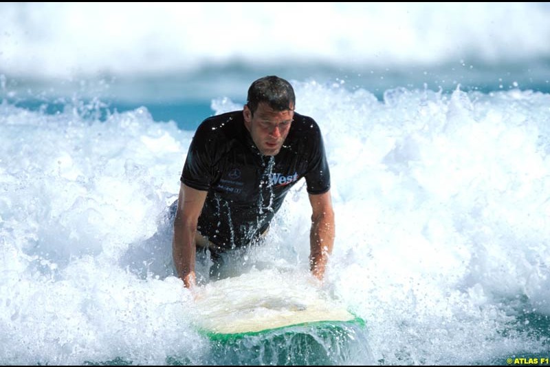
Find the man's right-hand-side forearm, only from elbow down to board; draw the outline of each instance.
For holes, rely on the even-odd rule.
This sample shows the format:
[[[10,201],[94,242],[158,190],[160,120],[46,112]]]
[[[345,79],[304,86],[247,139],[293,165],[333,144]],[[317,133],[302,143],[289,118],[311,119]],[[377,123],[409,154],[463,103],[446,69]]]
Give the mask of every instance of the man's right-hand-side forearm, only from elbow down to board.
[[[334,244],[334,213],[323,213],[322,216],[313,217],[311,220],[309,265],[311,273],[322,280]]]

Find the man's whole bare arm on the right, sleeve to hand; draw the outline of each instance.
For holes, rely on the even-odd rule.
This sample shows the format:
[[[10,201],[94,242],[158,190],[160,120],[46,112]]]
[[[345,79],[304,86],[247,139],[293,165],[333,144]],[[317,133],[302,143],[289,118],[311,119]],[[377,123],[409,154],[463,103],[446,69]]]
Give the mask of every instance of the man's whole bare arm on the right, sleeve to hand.
[[[325,266],[329,260],[334,244],[334,211],[332,209],[331,191],[320,194],[309,194],[311,232],[309,233],[309,265],[311,273],[319,280],[325,275]]]

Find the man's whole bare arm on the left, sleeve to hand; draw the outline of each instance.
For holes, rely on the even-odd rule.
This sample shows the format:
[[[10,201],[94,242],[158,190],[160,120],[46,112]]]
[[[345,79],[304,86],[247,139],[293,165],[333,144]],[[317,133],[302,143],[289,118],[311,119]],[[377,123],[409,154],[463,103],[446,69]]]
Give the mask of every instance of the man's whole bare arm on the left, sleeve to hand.
[[[177,275],[187,288],[195,286],[195,234],[207,193],[184,183],[179,187],[172,251]]]

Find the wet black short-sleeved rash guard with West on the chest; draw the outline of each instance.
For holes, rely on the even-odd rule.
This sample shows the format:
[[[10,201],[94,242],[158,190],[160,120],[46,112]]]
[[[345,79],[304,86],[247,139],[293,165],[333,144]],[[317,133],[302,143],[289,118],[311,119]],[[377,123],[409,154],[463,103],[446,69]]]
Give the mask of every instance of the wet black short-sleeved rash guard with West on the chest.
[[[199,125],[181,182],[208,191],[197,229],[223,250],[258,238],[303,177],[308,193],[330,189],[325,147],[313,118],[294,113],[281,151],[264,156],[244,125],[243,112],[235,111]]]

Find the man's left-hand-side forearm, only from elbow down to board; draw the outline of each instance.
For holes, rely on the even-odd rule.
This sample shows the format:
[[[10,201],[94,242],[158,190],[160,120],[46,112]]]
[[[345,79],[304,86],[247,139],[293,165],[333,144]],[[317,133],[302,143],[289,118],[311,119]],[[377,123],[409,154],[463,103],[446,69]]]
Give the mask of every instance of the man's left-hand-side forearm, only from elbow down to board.
[[[172,242],[174,264],[177,275],[187,288],[195,286],[195,227],[186,226],[178,221],[174,223]]]

